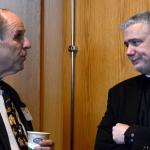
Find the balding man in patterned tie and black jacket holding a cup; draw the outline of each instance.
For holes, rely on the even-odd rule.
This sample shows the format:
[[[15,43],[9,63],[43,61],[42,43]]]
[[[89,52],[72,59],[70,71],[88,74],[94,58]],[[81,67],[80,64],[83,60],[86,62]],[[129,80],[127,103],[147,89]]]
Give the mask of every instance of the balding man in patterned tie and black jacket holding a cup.
[[[21,19],[0,9],[0,150],[27,150],[27,131],[33,130],[29,112],[16,91],[2,79],[24,69],[30,41]],[[28,113],[28,115],[26,115]],[[43,140],[37,150],[54,150],[54,142]]]

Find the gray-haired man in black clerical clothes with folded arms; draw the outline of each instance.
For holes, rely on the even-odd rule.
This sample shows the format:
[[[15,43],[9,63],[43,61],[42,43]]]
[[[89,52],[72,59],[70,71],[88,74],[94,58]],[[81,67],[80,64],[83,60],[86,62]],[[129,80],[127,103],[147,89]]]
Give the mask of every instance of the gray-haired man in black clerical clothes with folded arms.
[[[141,75],[109,90],[95,150],[150,149],[150,11],[132,16],[122,29],[126,54]]]

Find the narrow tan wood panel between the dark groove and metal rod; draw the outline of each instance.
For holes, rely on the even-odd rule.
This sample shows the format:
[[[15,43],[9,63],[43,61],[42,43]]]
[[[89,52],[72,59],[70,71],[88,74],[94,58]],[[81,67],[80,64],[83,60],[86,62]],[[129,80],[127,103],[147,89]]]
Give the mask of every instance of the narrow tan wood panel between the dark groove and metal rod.
[[[56,150],[63,149],[63,3],[63,0],[45,0],[42,130],[51,133]]]

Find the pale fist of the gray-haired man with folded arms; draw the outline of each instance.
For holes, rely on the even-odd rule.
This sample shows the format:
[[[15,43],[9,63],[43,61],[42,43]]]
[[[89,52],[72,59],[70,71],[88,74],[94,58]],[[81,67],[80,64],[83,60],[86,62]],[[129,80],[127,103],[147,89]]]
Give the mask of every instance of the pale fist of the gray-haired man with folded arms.
[[[129,128],[129,125],[117,123],[112,128],[113,140],[117,144],[124,144],[124,133]]]

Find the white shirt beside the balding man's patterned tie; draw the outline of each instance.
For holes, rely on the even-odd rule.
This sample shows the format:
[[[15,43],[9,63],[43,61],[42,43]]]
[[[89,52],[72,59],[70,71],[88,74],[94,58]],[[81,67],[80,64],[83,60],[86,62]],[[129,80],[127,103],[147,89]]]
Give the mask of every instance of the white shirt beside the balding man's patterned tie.
[[[3,99],[3,96],[2,96],[2,91],[1,90],[0,90],[0,114],[3,118],[4,124],[5,124],[5,127],[6,127],[6,131],[7,131],[7,134],[8,134],[11,150],[19,150],[19,147],[18,147],[18,144],[16,142],[15,136],[12,132],[11,126],[10,126],[9,121],[8,121],[8,116],[7,116],[7,112],[6,112],[4,99]]]

